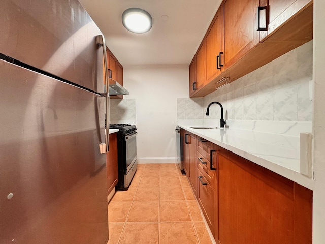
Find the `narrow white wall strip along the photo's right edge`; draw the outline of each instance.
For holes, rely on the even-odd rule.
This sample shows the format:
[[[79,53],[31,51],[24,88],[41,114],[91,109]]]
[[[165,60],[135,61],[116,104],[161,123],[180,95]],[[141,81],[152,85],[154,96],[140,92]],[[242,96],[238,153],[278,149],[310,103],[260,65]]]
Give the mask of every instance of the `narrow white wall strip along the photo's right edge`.
[[[325,2],[314,1],[313,244],[325,243]]]

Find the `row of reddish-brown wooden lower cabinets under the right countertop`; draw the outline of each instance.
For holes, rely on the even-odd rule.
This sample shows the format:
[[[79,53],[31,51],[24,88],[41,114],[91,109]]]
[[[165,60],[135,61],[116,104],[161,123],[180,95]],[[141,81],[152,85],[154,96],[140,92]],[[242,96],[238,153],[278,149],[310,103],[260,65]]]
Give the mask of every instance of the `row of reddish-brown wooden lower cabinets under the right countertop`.
[[[311,190],[190,132],[181,133],[185,172],[216,243],[312,244]]]

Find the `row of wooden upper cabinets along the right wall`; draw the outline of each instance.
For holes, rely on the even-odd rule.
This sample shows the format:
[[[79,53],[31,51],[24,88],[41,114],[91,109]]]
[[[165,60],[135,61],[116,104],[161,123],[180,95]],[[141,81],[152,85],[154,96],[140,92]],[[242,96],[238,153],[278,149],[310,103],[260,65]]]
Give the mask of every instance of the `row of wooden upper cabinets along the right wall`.
[[[258,11],[259,6],[266,6],[267,10]],[[261,14],[261,27],[267,26],[267,31],[257,31],[257,13]],[[218,41],[220,25],[221,49]],[[223,0],[197,51],[198,90],[190,93],[190,97],[204,97],[224,84],[218,82],[221,79],[228,77],[232,82],[312,37],[312,0]],[[198,64],[198,58],[204,56],[200,53],[204,48],[205,66],[201,61],[202,65]],[[216,56],[220,52],[223,53],[221,72],[216,70]],[[204,67],[205,71],[200,70]],[[203,82],[198,77],[203,77],[204,72],[206,79]]]

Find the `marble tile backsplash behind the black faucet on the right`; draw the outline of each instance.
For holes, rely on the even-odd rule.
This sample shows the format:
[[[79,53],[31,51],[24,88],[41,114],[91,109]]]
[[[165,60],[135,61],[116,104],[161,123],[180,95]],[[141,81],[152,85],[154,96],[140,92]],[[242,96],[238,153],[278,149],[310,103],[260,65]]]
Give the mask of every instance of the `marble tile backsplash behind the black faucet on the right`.
[[[312,41],[203,98],[178,98],[177,119],[312,121]],[[311,88],[312,89],[312,88]]]

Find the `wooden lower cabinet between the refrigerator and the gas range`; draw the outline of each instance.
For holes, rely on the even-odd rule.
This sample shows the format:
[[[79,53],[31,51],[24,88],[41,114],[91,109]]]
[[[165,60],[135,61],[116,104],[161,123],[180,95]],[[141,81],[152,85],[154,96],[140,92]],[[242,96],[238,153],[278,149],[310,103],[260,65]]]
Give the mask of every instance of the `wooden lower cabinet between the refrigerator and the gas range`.
[[[117,169],[117,133],[109,135],[109,151],[106,153],[107,195],[109,195],[118,182]]]

